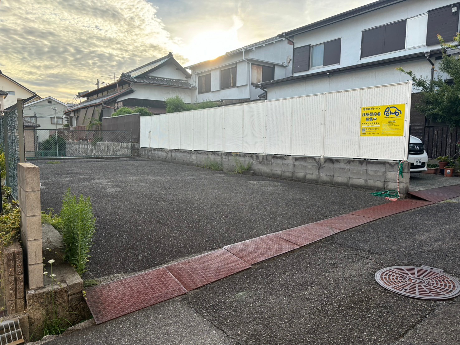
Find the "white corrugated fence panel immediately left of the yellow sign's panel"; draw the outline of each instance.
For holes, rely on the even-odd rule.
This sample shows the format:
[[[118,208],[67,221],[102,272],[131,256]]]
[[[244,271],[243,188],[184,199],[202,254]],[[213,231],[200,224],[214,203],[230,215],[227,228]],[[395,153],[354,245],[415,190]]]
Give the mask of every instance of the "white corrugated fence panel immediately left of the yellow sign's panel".
[[[358,157],[361,90],[326,93],[324,149],[326,157]]]

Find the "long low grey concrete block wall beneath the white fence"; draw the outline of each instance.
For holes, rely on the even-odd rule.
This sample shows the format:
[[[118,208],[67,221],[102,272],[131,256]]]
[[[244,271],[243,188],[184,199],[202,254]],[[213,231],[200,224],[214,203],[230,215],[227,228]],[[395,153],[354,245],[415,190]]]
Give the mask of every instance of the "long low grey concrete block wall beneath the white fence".
[[[217,161],[224,171],[234,171],[236,167],[235,157],[228,152],[140,148],[140,155],[191,166],[204,165],[206,160]],[[259,154],[237,154],[236,157],[243,164],[251,163],[251,170],[259,176],[368,192],[397,189],[399,163],[394,161]],[[409,190],[409,169],[409,163],[403,163],[403,177],[399,178],[403,197]]]

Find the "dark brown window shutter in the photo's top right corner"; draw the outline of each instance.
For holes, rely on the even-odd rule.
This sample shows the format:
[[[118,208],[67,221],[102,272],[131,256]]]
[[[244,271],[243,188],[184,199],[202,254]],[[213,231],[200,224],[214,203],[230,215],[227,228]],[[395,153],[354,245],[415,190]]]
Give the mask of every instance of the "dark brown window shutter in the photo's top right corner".
[[[428,11],[428,26],[426,29],[426,45],[438,45],[437,34],[446,42],[452,41],[459,25],[459,5],[454,4]],[[456,8],[456,11],[452,11]]]

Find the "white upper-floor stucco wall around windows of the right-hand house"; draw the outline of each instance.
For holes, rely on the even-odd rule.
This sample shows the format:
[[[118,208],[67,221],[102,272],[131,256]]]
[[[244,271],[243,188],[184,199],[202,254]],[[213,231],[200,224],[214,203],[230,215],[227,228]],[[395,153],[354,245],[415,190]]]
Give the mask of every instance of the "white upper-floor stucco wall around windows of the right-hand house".
[[[407,0],[379,10],[362,14],[357,17],[346,19],[338,23],[330,24],[323,28],[314,29],[303,34],[295,35],[292,37],[292,40],[294,41],[294,48],[306,45],[316,45],[327,42],[329,40],[341,38],[341,52],[339,64],[333,66],[311,68],[308,71],[294,72],[294,75],[307,75],[328,69],[336,69],[345,66],[356,65],[359,63],[369,63],[392,57],[409,55],[417,52],[425,52],[430,49],[437,49],[439,48],[439,45],[419,45],[396,52],[389,52],[361,58],[362,30],[422,15],[428,10],[453,3],[454,1],[452,0]],[[409,40],[415,39],[415,37],[419,36],[423,38],[423,35],[426,36],[426,22],[425,24],[422,22],[423,21],[417,25],[407,26],[407,37],[409,37]],[[425,26],[423,27],[423,25]],[[422,33],[424,34],[422,35]],[[448,37],[445,39],[447,41]],[[408,44],[408,40],[406,40],[406,44]]]

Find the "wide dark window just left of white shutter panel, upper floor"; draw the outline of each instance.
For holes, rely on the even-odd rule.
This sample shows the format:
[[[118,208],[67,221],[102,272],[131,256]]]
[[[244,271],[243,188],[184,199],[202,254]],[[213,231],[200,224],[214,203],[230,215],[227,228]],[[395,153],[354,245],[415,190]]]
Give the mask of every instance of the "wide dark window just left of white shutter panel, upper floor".
[[[406,19],[377,28],[364,30],[361,57],[402,50],[406,46]]]

